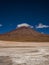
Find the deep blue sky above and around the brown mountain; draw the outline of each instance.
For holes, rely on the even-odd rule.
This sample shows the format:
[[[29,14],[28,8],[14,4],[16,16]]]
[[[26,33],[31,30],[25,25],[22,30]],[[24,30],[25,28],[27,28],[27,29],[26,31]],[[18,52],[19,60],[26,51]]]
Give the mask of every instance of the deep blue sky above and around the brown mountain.
[[[38,32],[49,34],[48,0],[0,0],[0,34],[27,23]],[[41,24],[42,28],[38,27]]]

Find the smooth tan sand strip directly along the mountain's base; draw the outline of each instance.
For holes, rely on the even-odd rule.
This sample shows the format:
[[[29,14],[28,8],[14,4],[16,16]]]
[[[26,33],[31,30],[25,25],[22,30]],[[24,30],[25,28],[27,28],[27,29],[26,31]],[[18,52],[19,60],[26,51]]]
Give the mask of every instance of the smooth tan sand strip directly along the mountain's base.
[[[11,41],[0,41],[0,46],[49,46],[49,42],[11,42]]]

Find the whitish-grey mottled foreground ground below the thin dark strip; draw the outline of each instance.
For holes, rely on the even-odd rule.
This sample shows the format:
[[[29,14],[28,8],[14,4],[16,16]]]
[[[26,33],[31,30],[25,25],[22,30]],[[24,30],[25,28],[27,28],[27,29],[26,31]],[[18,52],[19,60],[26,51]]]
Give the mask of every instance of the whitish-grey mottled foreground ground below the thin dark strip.
[[[0,48],[0,65],[49,65],[49,47]]]

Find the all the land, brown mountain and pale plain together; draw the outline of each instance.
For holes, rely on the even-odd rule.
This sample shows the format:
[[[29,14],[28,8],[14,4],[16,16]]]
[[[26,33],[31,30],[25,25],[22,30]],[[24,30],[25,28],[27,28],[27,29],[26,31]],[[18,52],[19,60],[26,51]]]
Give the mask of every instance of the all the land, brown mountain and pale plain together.
[[[1,34],[0,65],[49,65],[49,35],[26,26]]]

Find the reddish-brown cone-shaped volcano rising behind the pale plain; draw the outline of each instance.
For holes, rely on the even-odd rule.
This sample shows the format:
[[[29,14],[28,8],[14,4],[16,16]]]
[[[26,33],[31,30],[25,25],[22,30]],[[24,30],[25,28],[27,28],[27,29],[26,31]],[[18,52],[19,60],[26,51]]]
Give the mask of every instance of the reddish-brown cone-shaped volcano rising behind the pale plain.
[[[0,35],[1,40],[18,41],[18,42],[48,42],[49,35],[36,32],[29,27],[19,27],[14,31]]]

